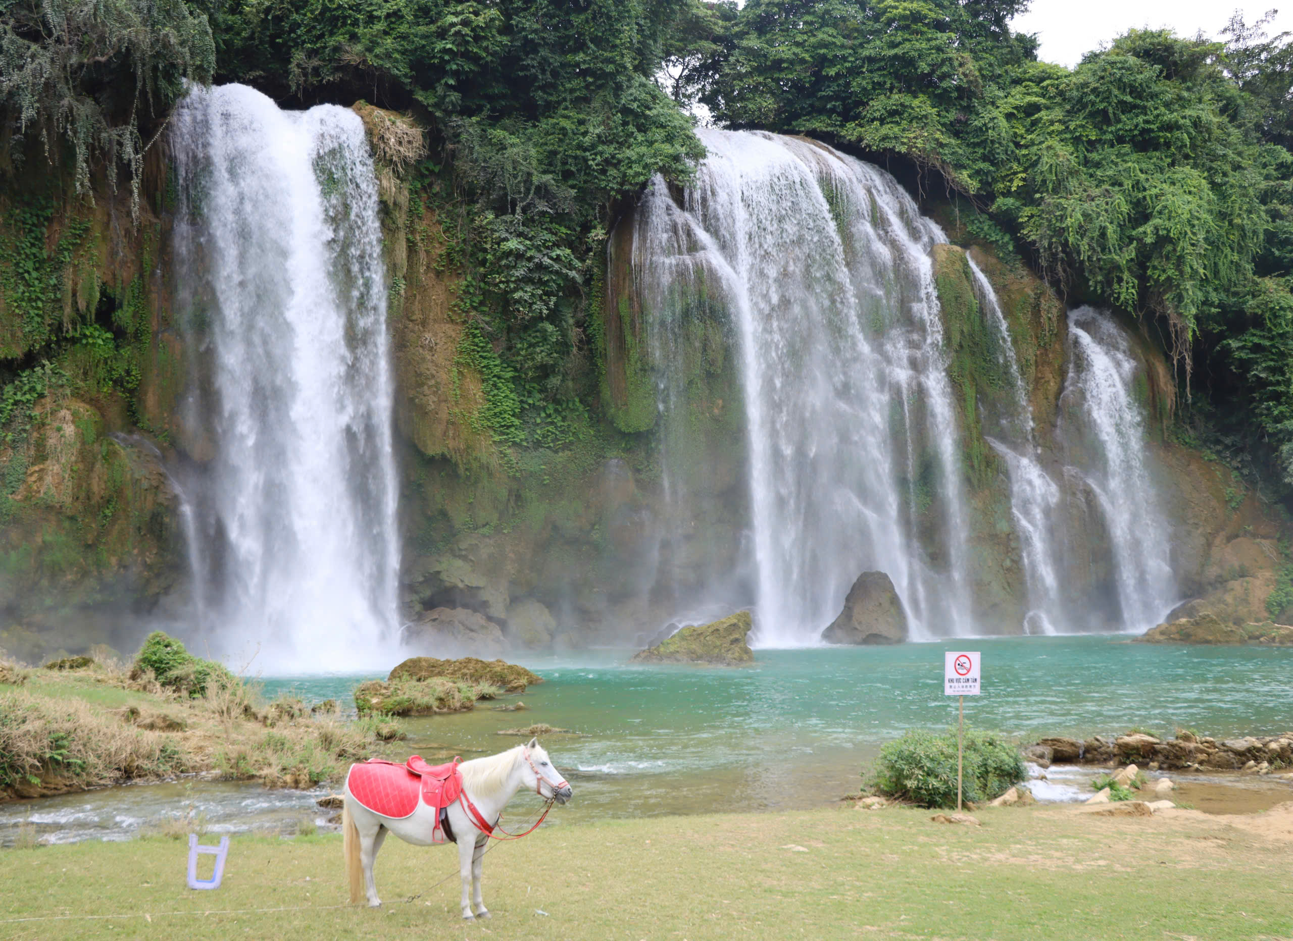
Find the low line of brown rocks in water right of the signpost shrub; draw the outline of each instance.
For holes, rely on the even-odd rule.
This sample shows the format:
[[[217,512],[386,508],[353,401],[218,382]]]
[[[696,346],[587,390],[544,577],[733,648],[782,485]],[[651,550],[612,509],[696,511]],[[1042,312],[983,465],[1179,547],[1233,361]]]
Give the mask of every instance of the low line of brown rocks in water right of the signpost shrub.
[[[1085,741],[1053,735],[1023,748],[1024,757],[1042,768],[1051,764],[1140,764],[1148,770],[1239,770],[1272,774],[1293,768],[1293,732],[1277,735],[1218,739],[1179,730],[1174,738],[1146,732],[1091,735]]]

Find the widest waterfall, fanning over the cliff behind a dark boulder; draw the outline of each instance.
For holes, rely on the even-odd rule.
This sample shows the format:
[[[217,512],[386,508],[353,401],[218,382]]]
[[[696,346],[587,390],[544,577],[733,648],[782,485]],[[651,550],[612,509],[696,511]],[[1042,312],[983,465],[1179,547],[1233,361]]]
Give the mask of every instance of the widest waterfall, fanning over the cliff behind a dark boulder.
[[[961,455],[930,257],[943,233],[890,174],[829,147],[700,136],[709,156],[684,204],[662,180],[644,196],[635,279],[648,306],[703,283],[734,332],[758,642],[817,642],[866,570],[890,575],[914,637],[968,632]],[[678,306],[646,312],[653,349],[668,346]],[[678,368],[657,359],[666,438],[685,421],[671,398]]]

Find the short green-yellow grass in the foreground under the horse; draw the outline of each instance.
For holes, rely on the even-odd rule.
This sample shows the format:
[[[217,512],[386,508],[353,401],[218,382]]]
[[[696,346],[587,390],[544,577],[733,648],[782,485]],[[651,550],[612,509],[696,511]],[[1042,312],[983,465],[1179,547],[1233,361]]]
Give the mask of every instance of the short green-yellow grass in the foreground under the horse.
[[[235,836],[224,885],[200,893],[184,887],[177,840],[0,851],[0,937],[1293,936],[1288,805],[1228,818],[999,809],[980,812],[979,829],[928,817],[830,808],[559,821],[491,852],[485,901],[494,919],[471,927],[458,919],[456,876],[434,885],[455,871],[453,851],[398,840],[379,857],[379,911],[341,906],[337,836]],[[10,920],[88,914],[128,916]]]

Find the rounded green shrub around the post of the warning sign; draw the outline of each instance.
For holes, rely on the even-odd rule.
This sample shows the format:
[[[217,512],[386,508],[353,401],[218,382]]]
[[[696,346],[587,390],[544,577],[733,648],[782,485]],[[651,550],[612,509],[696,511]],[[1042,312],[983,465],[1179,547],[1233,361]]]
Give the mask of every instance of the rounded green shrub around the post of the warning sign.
[[[993,734],[966,729],[963,796],[992,800],[1024,779],[1019,750]],[[908,732],[881,748],[870,786],[921,807],[956,807],[957,733]]]

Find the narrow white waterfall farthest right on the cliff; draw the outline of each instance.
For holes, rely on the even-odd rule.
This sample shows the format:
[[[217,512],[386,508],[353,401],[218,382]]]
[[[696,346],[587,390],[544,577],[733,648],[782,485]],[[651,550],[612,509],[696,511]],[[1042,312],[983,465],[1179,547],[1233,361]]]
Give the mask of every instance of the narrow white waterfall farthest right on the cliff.
[[[1175,600],[1171,533],[1144,459],[1144,407],[1137,401],[1144,377],[1126,332],[1107,313],[1077,308],[1069,312],[1068,332],[1060,433],[1108,533],[1118,605],[1113,627],[1144,631]]]

